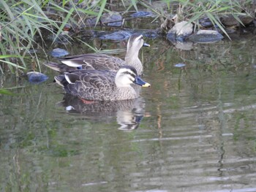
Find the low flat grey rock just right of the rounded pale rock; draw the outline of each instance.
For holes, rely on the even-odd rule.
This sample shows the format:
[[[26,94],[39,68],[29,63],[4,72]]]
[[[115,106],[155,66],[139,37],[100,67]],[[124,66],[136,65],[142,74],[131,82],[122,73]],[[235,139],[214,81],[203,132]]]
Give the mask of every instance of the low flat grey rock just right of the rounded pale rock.
[[[223,38],[222,34],[214,30],[199,30],[189,37],[189,40],[197,43],[219,42]]]

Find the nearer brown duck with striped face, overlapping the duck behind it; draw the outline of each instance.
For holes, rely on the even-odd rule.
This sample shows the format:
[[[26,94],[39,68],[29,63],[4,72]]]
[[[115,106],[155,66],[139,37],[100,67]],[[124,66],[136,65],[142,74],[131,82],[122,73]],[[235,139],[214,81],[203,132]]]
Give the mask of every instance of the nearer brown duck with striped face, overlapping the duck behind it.
[[[139,94],[131,86],[150,87],[133,66],[121,66],[117,72],[110,70],[79,69],[54,77],[66,93],[85,101],[118,101],[136,99]]]

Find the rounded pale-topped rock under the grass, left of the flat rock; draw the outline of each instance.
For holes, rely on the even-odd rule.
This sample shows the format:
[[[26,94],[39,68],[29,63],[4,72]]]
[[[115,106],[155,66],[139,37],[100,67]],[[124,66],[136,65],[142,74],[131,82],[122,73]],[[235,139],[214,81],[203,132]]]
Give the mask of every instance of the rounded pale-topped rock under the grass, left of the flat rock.
[[[193,25],[187,21],[181,21],[176,23],[173,28],[171,28],[167,33],[168,36],[175,34],[176,39],[180,42],[183,42],[186,37],[189,37],[193,32]]]

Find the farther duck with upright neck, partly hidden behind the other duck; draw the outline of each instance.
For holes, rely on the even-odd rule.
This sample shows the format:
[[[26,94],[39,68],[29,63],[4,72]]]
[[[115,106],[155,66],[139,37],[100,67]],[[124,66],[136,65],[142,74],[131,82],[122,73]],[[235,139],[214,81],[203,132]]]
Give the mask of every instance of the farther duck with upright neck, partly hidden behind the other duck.
[[[99,53],[87,53],[83,55],[71,55],[59,59],[62,64],[53,62],[45,63],[46,66],[58,72],[71,72],[77,69],[86,70],[110,70],[118,71],[121,66],[133,66],[138,75],[143,74],[143,64],[138,58],[141,47],[149,47],[150,45],[144,42],[142,34],[132,34],[127,43],[127,53],[124,60],[110,55]]]

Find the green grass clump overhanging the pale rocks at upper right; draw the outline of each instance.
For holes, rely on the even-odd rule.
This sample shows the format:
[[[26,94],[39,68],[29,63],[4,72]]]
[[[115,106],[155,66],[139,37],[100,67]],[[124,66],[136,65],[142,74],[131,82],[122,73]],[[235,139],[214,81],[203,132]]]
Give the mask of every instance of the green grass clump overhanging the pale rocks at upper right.
[[[227,15],[232,15],[238,20],[241,15],[249,15],[244,7],[252,4],[250,0],[162,0],[165,2],[167,9],[156,10],[148,1],[140,1],[144,7],[152,9],[162,18],[170,18],[170,15],[177,14],[178,20],[188,20],[190,23],[195,23],[199,28],[199,20],[201,18],[209,18],[214,26],[218,26],[228,37],[225,27],[222,25],[220,18]],[[243,23],[241,23],[243,25]]]

